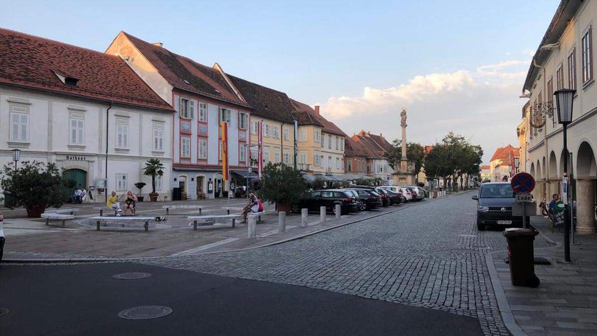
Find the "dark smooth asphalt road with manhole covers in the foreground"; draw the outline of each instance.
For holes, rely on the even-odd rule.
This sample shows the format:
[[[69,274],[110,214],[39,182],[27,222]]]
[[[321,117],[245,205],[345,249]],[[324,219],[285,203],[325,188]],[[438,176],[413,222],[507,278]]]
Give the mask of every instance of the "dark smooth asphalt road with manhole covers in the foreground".
[[[152,276],[113,279],[140,271]],[[147,320],[126,308],[173,309]],[[304,286],[132,264],[2,265],[0,335],[479,335],[478,321]]]

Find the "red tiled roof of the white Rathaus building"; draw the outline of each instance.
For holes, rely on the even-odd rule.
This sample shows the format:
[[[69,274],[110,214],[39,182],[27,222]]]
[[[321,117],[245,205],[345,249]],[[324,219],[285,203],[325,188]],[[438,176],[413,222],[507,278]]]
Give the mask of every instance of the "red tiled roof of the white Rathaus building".
[[[117,56],[0,28],[0,60],[0,83],[173,111]]]

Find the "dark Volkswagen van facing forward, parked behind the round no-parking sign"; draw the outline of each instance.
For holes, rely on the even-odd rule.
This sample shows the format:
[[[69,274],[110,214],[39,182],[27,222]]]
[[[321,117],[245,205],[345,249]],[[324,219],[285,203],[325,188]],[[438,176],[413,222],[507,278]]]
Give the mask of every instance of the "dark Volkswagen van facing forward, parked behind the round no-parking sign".
[[[479,189],[479,194],[472,198],[477,201],[479,231],[485,230],[485,225],[492,224],[522,227],[522,216],[512,215],[512,206],[516,199],[509,182],[484,183]]]

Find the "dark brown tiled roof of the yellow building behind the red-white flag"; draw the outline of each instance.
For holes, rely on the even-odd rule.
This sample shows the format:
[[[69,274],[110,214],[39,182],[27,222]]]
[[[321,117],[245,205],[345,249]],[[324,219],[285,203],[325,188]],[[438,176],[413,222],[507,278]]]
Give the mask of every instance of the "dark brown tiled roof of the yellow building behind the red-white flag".
[[[295,111],[295,108],[284,92],[230,74],[226,75],[247,103],[253,107],[252,115],[284,123],[294,123],[292,112]]]

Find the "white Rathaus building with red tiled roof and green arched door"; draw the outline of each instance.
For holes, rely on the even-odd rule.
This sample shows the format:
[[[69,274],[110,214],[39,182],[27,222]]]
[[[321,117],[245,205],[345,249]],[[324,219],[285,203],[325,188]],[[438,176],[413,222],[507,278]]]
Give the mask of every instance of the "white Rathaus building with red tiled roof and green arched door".
[[[164,164],[156,192],[168,195],[173,109],[118,57],[0,29],[0,164],[53,162],[76,187],[139,191],[150,158]],[[106,151],[107,146],[107,151]],[[100,193],[100,194],[99,194]]]

